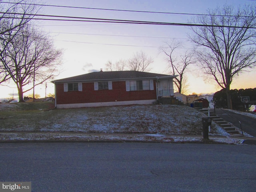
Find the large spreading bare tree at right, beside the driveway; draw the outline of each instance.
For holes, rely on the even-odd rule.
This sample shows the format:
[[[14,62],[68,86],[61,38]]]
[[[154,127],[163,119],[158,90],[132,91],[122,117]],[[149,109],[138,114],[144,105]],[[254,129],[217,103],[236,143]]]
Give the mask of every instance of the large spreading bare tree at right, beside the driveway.
[[[241,72],[256,66],[256,6],[234,10],[232,6],[209,10],[191,27],[192,42],[198,49],[198,58],[204,72],[226,90],[231,109],[230,84]]]

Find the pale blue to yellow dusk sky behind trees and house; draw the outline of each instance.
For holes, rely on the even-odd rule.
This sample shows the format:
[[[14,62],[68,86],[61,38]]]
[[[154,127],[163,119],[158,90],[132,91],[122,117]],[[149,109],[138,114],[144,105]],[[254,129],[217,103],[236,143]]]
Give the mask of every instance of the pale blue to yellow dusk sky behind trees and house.
[[[222,7],[224,4],[238,7],[256,3],[253,0],[42,0],[41,2],[45,5],[191,14],[204,14],[209,8]],[[186,14],[50,6],[43,6],[40,14],[174,23],[188,23],[195,17]],[[166,55],[160,52],[160,47],[164,46],[165,42],[175,39],[184,43],[184,47],[180,48],[177,54],[193,48],[187,35],[191,31],[185,26],[47,20],[36,21],[36,24],[50,35],[56,48],[63,50],[61,73],[56,79],[100,71],[101,68],[104,70],[108,61],[114,63],[120,59],[127,60],[140,51],[154,59],[150,72],[170,74],[167,70]],[[220,90],[216,82],[202,78],[197,66],[190,66],[189,69],[190,72],[186,73],[189,82],[187,94],[193,92],[210,94]],[[244,72],[233,80],[231,89],[256,87],[255,76],[256,69]],[[13,88],[0,85],[0,98],[10,98],[12,95],[17,98],[17,88],[15,85],[9,84],[9,86]],[[40,94],[41,97],[45,96],[45,84],[36,87],[35,90],[36,94]],[[47,82],[46,93],[54,93],[54,84]],[[27,93],[24,94],[26,95]]]

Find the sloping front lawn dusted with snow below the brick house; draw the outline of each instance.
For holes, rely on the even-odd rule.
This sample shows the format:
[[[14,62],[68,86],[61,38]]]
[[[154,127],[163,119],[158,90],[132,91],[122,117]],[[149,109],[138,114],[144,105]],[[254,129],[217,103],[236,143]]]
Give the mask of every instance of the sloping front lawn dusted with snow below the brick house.
[[[0,104],[0,131],[202,135],[202,114],[187,106],[134,105],[44,109],[51,102]],[[212,135],[228,134],[213,123]]]

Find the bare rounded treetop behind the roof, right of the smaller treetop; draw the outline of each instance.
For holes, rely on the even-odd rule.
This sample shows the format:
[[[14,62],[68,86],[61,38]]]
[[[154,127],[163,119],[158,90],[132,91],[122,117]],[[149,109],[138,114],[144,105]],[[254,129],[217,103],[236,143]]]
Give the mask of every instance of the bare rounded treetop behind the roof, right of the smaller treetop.
[[[149,66],[153,62],[154,60],[148,57],[144,52],[136,52],[136,54],[128,60],[128,68],[129,70],[148,72],[151,70]]]

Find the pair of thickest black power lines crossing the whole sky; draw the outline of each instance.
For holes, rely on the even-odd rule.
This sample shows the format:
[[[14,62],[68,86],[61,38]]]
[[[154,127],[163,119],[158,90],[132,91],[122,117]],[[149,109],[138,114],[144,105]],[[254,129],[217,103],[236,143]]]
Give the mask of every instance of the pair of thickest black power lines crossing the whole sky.
[[[33,20],[53,20],[53,21],[75,21],[75,22],[105,22],[105,23],[125,23],[125,24],[150,24],[150,25],[171,25],[171,26],[203,26],[203,27],[225,27],[225,28],[253,28],[247,26],[226,26],[226,25],[207,25],[207,24],[188,24],[188,23],[169,23],[169,22],[151,22],[151,21],[138,21],[138,20],[119,20],[119,19],[106,19],[106,18],[88,18],[88,17],[74,17],[74,16],[58,16],[58,15],[43,15],[43,14],[24,14],[24,13],[12,13],[12,12],[0,12],[0,14],[14,14],[14,15],[26,15],[26,16],[44,16],[51,18],[30,18]],[[70,18],[70,19],[55,19],[56,18]],[[17,17],[6,17],[2,18],[13,18]],[[87,19],[87,20],[86,20]]]

